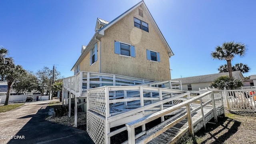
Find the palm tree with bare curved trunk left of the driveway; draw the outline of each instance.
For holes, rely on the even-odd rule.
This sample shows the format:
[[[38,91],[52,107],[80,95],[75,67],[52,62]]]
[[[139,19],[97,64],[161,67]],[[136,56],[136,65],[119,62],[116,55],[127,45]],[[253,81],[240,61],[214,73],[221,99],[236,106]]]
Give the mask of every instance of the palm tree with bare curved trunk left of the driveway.
[[[12,84],[18,77],[26,74],[26,70],[24,70],[22,68],[22,66],[20,66],[20,65],[9,64],[6,66],[6,70],[5,70],[4,74],[5,74],[5,78],[7,81],[7,87],[8,87],[4,105],[8,105]]]

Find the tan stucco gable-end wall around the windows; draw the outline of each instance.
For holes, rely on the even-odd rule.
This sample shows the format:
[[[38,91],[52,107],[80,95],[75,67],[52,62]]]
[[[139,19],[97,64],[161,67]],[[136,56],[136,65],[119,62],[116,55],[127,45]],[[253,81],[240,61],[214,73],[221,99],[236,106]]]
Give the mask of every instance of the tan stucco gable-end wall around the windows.
[[[135,27],[134,17],[148,23],[149,32]],[[135,47],[135,58],[115,54],[114,41],[133,45]],[[149,80],[170,80],[168,52],[146,14],[144,14],[144,17],[138,15],[138,8],[105,30],[101,43],[103,73]],[[147,49],[159,52],[160,62],[147,60]]]

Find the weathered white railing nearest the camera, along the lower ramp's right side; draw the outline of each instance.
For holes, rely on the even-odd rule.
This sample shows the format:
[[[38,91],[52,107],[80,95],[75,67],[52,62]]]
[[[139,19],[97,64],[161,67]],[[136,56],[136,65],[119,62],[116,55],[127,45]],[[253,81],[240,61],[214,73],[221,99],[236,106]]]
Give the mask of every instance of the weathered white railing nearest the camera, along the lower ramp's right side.
[[[217,92],[219,94],[219,92]],[[203,103],[202,102],[202,98],[204,98],[205,96],[210,95],[211,99],[208,102]],[[196,101],[200,101],[200,106],[194,110],[190,110],[190,104],[196,102]],[[172,128],[175,124],[177,124],[178,122],[181,122],[182,120],[186,119],[188,120],[188,131],[191,135],[194,135],[194,128],[193,128],[193,123],[192,123],[192,114],[198,110],[201,109],[202,112],[202,122],[204,124],[204,127],[206,126],[206,122],[204,120],[205,116],[204,116],[204,106],[208,106],[208,104],[211,103],[212,109],[213,109],[213,115],[214,115],[214,119],[217,120],[217,112],[216,112],[216,107],[221,106],[223,108],[223,102],[222,102],[222,95],[219,94],[217,96],[217,98],[214,96],[214,92],[213,91],[209,91],[206,92],[204,94],[201,94],[199,96],[196,96],[194,98],[191,98],[190,100],[187,100],[185,102],[182,102],[180,104],[177,104],[175,106],[172,106],[170,108],[166,108],[164,110],[161,110],[159,112],[156,112],[152,115],[149,115],[147,117],[144,118],[140,118],[138,120],[134,120],[132,122],[129,122],[126,124],[127,127],[127,131],[128,131],[128,144],[135,144],[135,140],[137,138],[139,138],[140,136],[144,135],[144,134],[148,134],[148,132],[146,130],[142,130],[142,132],[140,134],[135,135],[135,128],[142,126],[148,122],[151,122],[153,120],[156,120],[157,118],[160,118],[170,112],[173,112],[174,110],[178,110],[182,107],[186,107],[186,113],[185,115],[181,116],[180,118],[170,122],[168,125],[164,126],[164,127],[160,127],[160,125],[164,125],[166,124],[166,122],[162,122],[161,124],[158,124],[156,126],[156,128],[158,128],[158,131],[148,135],[146,138],[144,138],[143,140],[140,140],[138,142],[138,144],[146,144],[147,142],[149,142],[150,140],[152,140],[153,138],[156,138],[157,136],[159,136],[160,134],[162,134],[163,132],[165,132],[166,130]],[[167,120],[166,120],[167,121]],[[156,129],[156,128],[152,128],[152,129]],[[160,129],[159,129],[160,128]],[[137,143],[137,142],[136,142]]]

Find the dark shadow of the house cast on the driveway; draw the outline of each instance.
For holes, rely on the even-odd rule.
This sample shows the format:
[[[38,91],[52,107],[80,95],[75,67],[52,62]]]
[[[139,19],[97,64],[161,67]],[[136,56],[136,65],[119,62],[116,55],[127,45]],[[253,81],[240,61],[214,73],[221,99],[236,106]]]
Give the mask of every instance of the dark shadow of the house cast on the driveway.
[[[42,106],[36,114],[18,119],[31,118],[8,144],[94,144],[84,130],[64,126],[45,120],[47,106]],[[16,137],[17,138],[17,137]]]

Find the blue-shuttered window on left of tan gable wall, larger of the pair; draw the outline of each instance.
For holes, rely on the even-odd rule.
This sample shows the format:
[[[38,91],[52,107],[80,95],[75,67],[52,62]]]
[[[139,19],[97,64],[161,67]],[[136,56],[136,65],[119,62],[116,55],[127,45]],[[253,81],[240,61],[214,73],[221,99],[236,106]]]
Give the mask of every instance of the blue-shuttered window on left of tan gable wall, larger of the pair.
[[[115,42],[115,54],[135,57],[135,48],[124,42]]]

